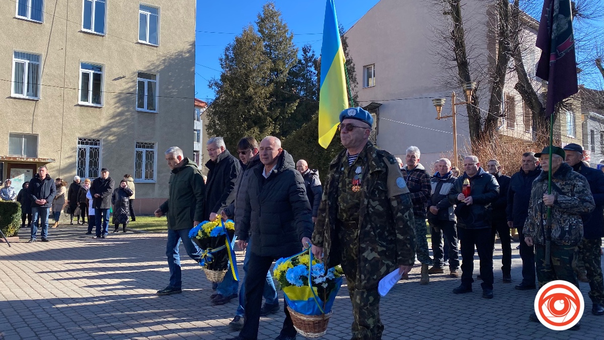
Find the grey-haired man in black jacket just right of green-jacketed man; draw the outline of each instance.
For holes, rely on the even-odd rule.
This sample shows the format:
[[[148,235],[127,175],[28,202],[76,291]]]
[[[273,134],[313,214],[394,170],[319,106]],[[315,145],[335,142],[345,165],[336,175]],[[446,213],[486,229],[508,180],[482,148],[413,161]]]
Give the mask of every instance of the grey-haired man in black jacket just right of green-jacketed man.
[[[241,172],[241,162],[226,149],[222,137],[208,139],[206,149],[210,160],[205,163],[208,168],[208,180],[205,185],[204,220],[216,220],[220,208],[226,206],[226,201],[235,188],[237,176]],[[226,275],[233,275],[227,272]],[[223,280],[216,287],[216,295],[212,297],[213,306],[223,305],[237,297],[239,282]]]

